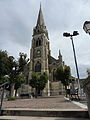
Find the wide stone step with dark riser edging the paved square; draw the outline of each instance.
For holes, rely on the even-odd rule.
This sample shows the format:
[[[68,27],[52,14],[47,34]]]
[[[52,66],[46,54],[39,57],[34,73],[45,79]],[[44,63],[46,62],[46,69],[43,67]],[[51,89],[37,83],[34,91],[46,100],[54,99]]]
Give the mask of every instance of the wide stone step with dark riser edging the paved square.
[[[8,116],[33,116],[33,117],[64,117],[64,118],[89,118],[88,111],[84,109],[4,109],[3,115]]]

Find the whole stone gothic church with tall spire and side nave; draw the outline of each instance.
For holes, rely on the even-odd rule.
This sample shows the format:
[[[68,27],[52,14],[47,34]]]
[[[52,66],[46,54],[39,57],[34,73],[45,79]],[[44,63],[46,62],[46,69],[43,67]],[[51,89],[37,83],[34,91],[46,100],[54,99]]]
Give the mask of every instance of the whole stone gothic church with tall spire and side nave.
[[[32,72],[44,73],[49,76],[48,83],[43,90],[44,95],[62,94],[63,85],[55,77],[55,70],[63,66],[62,55],[59,50],[58,59],[51,56],[48,30],[45,25],[43,12],[39,9],[36,26],[33,28],[32,44],[30,50],[29,80]]]

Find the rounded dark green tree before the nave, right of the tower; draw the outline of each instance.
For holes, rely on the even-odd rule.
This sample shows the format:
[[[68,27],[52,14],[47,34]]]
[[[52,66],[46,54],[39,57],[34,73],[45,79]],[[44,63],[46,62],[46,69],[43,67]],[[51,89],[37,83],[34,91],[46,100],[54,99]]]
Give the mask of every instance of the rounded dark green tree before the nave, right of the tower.
[[[65,90],[67,90],[67,86],[70,83],[70,67],[69,66],[60,66],[57,68],[55,72],[56,78],[61,81],[61,83],[65,86]]]

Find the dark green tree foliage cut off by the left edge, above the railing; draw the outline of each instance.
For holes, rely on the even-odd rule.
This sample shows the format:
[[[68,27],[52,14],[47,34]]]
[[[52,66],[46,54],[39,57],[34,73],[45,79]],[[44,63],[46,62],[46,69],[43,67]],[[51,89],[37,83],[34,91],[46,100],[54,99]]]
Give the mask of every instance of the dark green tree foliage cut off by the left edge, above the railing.
[[[7,51],[0,50],[0,83],[9,81],[14,58]]]

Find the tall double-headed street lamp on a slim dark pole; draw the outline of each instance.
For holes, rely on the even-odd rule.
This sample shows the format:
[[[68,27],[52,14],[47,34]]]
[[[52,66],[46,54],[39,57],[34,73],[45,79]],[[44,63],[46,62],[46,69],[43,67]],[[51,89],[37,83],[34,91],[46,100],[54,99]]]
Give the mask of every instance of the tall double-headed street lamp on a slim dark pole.
[[[73,47],[73,53],[74,53],[74,60],[75,60],[75,66],[76,66],[76,72],[77,72],[77,78],[78,78],[78,88],[79,88],[79,93],[80,93],[80,81],[79,81],[79,71],[78,71],[78,65],[77,65],[77,59],[76,59],[76,53],[75,53],[75,47],[74,47],[74,42],[73,42],[73,36],[79,35],[78,31],[73,31],[73,34],[70,33],[63,33],[64,37],[70,37],[71,42],[72,42],[72,47]]]

